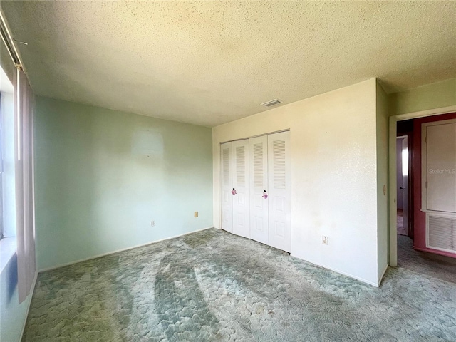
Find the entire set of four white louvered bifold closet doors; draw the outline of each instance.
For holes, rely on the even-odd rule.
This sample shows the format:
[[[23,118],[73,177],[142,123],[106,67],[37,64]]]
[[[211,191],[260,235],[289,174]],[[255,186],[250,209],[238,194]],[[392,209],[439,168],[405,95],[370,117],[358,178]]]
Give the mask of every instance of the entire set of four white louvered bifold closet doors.
[[[220,146],[222,229],[291,252],[289,132]]]

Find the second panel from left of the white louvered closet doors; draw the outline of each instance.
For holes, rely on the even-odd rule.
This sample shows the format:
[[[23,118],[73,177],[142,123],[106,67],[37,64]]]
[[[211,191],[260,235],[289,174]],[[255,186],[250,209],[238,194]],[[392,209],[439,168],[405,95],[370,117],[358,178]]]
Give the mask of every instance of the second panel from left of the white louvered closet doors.
[[[249,140],[232,142],[233,234],[250,237]]]

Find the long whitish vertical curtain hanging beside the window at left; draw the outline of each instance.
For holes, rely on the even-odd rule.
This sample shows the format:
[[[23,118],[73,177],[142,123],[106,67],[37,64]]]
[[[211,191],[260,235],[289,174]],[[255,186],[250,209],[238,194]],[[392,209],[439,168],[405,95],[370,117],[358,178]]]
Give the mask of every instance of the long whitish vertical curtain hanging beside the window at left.
[[[36,273],[33,194],[33,93],[24,71],[14,77],[16,240],[19,303],[30,294]]]

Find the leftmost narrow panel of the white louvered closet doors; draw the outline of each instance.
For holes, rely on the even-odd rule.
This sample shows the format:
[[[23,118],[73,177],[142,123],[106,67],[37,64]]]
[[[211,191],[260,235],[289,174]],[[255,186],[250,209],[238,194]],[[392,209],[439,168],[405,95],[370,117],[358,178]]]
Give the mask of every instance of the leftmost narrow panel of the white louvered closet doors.
[[[222,169],[222,229],[233,232],[232,142],[220,146]]]

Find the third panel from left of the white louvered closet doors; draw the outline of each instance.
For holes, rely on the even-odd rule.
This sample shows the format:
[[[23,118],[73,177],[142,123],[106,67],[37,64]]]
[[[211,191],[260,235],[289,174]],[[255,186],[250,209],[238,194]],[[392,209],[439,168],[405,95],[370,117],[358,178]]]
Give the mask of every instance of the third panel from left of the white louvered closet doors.
[[[268,137],[249,140],[250,154],[250,238],[269,244],[268,231]],[[266,192],[265,192],[266,191]],[[267,196],[265,196],[265,194]]]

